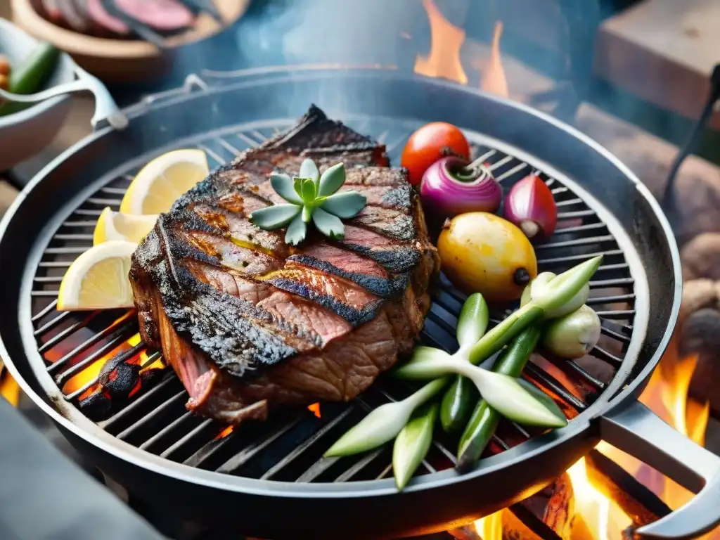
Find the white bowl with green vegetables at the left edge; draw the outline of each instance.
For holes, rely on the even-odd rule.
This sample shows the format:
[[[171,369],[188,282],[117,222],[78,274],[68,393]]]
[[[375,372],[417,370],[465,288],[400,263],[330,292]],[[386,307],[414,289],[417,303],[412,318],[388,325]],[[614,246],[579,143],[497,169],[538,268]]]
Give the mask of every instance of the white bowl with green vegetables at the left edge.
[[[11,69],[22,63],[37,44],[34,37],[0,19],[0,54],[9,58]],[[60,53],[55,73],[45,88],[73,81],[75,68],[73,60]],[[45,148],[63,125],[70,104],[68,96],[58,96],[0,117],[0,171],[14,167]]]

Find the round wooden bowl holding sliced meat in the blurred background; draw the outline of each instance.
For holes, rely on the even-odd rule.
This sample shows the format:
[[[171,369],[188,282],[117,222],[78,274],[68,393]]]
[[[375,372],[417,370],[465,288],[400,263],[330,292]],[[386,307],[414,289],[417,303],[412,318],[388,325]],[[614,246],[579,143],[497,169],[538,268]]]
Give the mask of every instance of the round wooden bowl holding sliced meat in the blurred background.
[[[140,40],[113,40],[66,30],[43,19],[35,11],[36,3],[37,0],[12,0],[13,22],[37,39],[66,51],[79,66],[103,81],[139,82],[166,73],[176,48],[216,35],[240,19],[250,0],[215,0],[224,24],[202,13],[191,29],[168,37],[164,49]]]

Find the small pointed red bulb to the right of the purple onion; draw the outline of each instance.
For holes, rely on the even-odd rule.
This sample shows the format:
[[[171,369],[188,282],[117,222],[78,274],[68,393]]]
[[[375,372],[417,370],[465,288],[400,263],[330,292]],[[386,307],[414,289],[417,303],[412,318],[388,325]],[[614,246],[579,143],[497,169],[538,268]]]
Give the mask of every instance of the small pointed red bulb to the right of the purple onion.
[[[557,225],[557,206],[552,192],[536,174],[515,184],[505,197],[505,219],[528,238],[548,238]]]

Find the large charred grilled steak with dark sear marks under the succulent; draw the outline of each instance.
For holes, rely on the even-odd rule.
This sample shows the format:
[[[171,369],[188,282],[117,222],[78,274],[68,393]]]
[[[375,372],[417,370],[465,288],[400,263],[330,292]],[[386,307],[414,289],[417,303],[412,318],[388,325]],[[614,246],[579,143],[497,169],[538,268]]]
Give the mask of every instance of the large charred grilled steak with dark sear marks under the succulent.
[[[297,248],[247,215],[284,202],[269,174],[342,161],[368,204],[345,238]],[[140,332],[189,392],[189,410],[239,423],[269,406],[350,400],[410,351],[438,271],[420,202],[384,145],[311,107],[184,194],[132,258]]]

